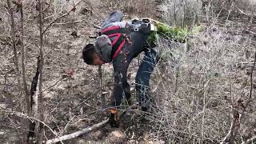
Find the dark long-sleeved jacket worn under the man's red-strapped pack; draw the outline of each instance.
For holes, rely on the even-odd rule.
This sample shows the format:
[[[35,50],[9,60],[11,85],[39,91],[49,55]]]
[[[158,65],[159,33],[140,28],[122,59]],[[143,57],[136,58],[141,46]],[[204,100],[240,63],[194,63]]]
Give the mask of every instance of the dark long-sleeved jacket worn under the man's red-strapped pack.
[[[121,11],[115,11],[110,14],[110,18],[102,25],[102,31],[106,30],[111,26],[124,27],[130,25],[132,22],[121,22],[123,14]],[[142,51],[146,50],[146,39],[148,34],[141,32],[131,32],[129,34],[129,41],[126,41],[125,45],[122,46],[121,51],[112,59],[114,67],[114,92],[112,96],[112,106],[119,106],[122,102],[122,98],[130,98],[130,85],[127,82],[127,70],[130,62]],[[110,38],[111,41],[114,38]]]

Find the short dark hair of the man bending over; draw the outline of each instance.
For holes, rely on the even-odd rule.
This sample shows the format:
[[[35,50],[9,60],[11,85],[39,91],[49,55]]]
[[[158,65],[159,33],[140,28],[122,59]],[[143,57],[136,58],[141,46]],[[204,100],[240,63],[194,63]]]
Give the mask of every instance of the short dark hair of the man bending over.
[[[82,58],[83,61],[86,62],[87,65],[92,65],[94,62],[94,55],[96,54],[96,50],[93,44],[86,45],[82,50]]]

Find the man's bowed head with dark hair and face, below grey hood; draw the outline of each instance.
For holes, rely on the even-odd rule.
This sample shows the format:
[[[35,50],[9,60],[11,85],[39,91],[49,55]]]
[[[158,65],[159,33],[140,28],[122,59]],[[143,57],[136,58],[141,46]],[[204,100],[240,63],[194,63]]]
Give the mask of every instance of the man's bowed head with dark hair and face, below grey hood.
[[[97,54],[93,44],[88,44],[83,48],[82,58],[88,65],[102,65],[105,63],[100,55]]]

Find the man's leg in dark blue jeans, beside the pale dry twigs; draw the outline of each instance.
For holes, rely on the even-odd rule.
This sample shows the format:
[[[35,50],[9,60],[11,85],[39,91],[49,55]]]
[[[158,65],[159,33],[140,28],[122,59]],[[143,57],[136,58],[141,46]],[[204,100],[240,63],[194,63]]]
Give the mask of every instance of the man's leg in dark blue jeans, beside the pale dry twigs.
[[[146,111],[150,108],[149,98],[149,86],[150,86],[150,74],[154,70],[154,66],[158,62],[158,56],[155,50],[146,50],[145,56],[142,60],[142,64],[138,68],[136,75],[136,91],[139,105],[142,106],[142,110]]]

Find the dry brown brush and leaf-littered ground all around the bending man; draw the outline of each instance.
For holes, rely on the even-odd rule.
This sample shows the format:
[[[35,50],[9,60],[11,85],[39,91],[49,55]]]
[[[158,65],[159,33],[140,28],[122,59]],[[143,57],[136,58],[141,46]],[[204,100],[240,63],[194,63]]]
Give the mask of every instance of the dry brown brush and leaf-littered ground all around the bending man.
[[[62,143],[256,142],[253,0],[24,0],[9,1],[9,8],[7,2],[0,2],[1,143],[26,143],[33,123],[35,139],[28,142],[42,143],[106,120],[100,93],[109,102],[112,68],[102,66],[100,86],[98,67],[80,57],[94,41],[94,25],[113,10],[203,29],[185,44],[159,43],[165,54],[150,82],[153,114],[133,106],[118,130],[104,125]],[[134,103],[139,59],[129,73]]]

